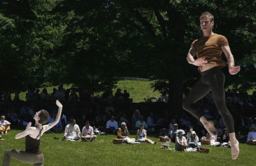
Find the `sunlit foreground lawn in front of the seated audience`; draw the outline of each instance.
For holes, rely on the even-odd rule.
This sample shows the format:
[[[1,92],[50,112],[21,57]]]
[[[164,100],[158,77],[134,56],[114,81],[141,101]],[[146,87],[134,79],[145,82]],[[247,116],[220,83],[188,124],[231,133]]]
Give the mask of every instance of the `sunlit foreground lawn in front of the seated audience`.
[[[24,150],[25,139],[15,140],[15,135],[21,130],[10,130],[0,140],[0,161],[3,159],[4,149]],[[168,151],[161,149],[157,135],[148,138],[157,144],[113,144],[111,140],[115,135],[98,135],[93,142],[68,142],[54,140],[62,133],[45,133],[41,139],[40,149],[44,153],[44,165],[256,165],[256,146],[240,144],[240,155],[232,160],[230,148],[210,147],[209,153],[182,151]],[[131,137],[134,137],[132,135]],[[170,143],[174,147],[174,143]],[[11,165],[28,165],[17,160]]]

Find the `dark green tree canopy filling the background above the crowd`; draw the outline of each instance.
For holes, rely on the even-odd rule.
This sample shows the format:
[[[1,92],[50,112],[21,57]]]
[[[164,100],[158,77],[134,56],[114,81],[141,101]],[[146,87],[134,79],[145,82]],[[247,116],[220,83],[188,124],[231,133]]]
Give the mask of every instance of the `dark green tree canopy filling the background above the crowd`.
[[[3,0],[0,91],[72,83],[93,93],[112,89],[115,76],[146,77],[180,103],[198,77],[186,54],[202,35],[203,11],[243,66],[227,75],[227,86],[244,91],[255,87],[255,7],[249,0]]]

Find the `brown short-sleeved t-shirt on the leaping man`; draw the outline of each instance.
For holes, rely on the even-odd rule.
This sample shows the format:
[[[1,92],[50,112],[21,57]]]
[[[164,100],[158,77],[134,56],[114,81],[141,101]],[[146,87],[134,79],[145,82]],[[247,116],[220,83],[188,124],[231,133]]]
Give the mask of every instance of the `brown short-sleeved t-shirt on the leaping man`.
[[[212,36],[202,36],[193,41],[191,47],[195,47],[196,57],[205,57],[208,63],[218,64],[221,68],[225,67],[225,62],[221,59],[222,46],[228,45],[228,40],[221,34],[212,34]]]

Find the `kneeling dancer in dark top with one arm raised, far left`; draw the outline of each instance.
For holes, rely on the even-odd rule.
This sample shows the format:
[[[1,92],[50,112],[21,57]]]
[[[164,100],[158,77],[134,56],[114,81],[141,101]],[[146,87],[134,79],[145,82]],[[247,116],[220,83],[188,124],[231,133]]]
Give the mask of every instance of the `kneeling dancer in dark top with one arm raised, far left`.
[[[56,105],[58,106],[58,113],[55,121],[49,124],[45,124],[47,121],[49,121],[49,113],[44,109],[39,110],[33,117],[35,119],[35,126],[31,126],[32,123],[29,122],[26,126],[26,130],[24,130],[24,132],[18,133],[15,136],[15,139],[26,137],[26,151],[14,149],[6,150],[3,158],[3,166],[10,165],[11,158],[15,158],[16,160],[19,160],[23,163],[44,165],[44,154],[40,150],[40,139],[42,135],[47,132],[47,130],[51,129],[60,121],[62,104],[56,100]]]

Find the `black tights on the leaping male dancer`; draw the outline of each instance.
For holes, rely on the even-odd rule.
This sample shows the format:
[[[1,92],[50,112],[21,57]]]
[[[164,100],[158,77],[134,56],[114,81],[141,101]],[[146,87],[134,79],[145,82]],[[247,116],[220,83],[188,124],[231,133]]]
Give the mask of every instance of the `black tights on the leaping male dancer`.
[[[211,68],[205,72],[201,72],[201,77],[195,86],[192,87],[188,96],[184,98],[182,107],[184,110],[188,111],[197,119],[204,116],[204,111],[200,109],[195,103],[204,98],[204,96],[212,92],[214,103],[223,118],[223,121],[228,128],[228,132],[235,132],[234,130],[234,120],[232,115],[227,109],[225,102],[225,75],[220,70],[219,67]]]

